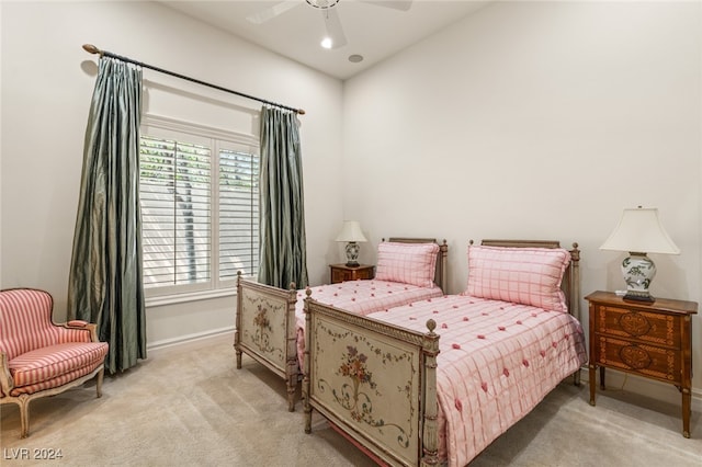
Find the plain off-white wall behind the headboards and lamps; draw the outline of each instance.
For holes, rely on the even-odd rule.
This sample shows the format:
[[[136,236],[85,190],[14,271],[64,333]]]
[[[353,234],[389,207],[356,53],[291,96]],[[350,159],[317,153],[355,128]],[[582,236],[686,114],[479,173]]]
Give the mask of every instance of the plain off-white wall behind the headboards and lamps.
[[[469,239],[577,241],[587,295],[624,288],[622,208],[658,207],[653,294],[702,301],[701,44],[700,2],[495,2],[344,83],[346,217],[446,238],[452,293]]]

